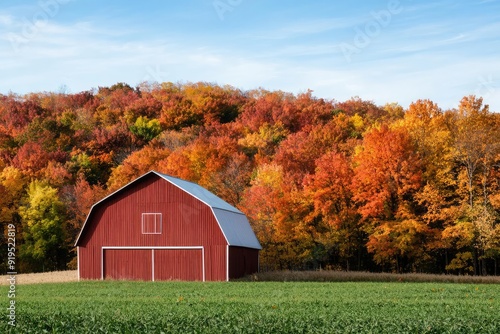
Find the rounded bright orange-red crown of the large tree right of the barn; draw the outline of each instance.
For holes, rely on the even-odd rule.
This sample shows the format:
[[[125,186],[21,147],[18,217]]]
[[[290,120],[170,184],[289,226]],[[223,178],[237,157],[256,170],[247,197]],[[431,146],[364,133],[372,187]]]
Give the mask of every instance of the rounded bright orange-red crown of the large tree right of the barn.
[[[362,217],[406,217],[422,180],[420,159],[406,130],[386,125],[374,128],[358,151],[352,191]]]

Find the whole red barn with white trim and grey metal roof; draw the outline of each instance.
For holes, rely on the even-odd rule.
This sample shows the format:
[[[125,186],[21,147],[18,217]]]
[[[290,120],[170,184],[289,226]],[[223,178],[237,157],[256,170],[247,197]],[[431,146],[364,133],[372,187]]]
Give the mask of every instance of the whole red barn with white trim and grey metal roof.
[[[75,246],[80,279],[145,281],[238,278],[261,249],[241,211],[155,171],[94,204]]]

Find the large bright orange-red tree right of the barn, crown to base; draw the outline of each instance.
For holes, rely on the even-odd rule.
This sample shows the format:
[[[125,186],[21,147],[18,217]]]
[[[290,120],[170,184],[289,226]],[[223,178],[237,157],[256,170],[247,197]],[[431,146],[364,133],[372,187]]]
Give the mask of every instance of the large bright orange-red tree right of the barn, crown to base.
[[[381,238],[403,230],[414,220],[414,194],[421,186],[420,159],[404,128],[381,126],[367,133],[354,157],[353,199],[369,233],[368,251],[378,263],[391,263],[400,270],[399,258],[415,258],[395,240]],[[418,233],[425,228],[414,228]],[[419,236],[420,237],[420,236]],[[414,246],[421,246],[413,243]]]

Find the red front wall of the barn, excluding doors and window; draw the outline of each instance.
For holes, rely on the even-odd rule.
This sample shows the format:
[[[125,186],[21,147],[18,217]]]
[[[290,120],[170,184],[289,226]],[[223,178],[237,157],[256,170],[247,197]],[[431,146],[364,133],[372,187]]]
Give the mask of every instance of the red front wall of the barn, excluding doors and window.
[[[143,213],[162,214],[161,234],[142,233]],[[210,207],[155,174],[101,202],[87,225],[79,242],[82,279],[101,278],[102,247],[124,246],[203,246],[206,280],[226,279],[226,240]]]

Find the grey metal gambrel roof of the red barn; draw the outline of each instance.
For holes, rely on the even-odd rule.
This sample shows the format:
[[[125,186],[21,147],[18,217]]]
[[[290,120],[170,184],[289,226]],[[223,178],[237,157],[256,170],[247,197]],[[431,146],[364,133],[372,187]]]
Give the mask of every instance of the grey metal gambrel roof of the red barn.
[[[227,203],[220,197],[217,197],[207,189],[197,185],[196,183],[185,181],[156,171],[150,171],[140,176],[139,178],[133,180],[132,182],[118,189],[114,193],[106,196],[99,202],[95,203],[90,209],[87,219],[83,224],[82,230],[80,231],[80,235],[78,236],[75,242],[75,246],[78,246],[80,238],[84,234],[88,220],[97,206],[102,204],[108,198],[114,196],[116,193],[121,192],[123,189],[128,188],[132,184],[139,182],[142,178],[150,174],[155,174],[159,176],[160,178],[164,179],[167,182],[170,182],[174,186],[178,187],[179,189],[185,191],[186,193],[190,194],[191,196],[195,197],[199,201],[209,206],[212,209],[212,212],[217,222],[219,223],[221,231],[224,234],[224,237],[226,238],[226,241],[229,244],[229,246],[262,249],[259,241],[257,240],[257,237],[255,236],[255,233],[253,232],[250,226],[247,217],[245,216],[245,214],[243,214],[243,212],[241,212],[231,204]]]

